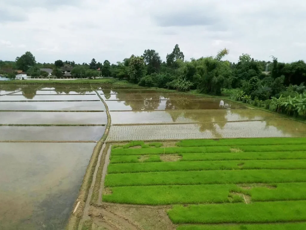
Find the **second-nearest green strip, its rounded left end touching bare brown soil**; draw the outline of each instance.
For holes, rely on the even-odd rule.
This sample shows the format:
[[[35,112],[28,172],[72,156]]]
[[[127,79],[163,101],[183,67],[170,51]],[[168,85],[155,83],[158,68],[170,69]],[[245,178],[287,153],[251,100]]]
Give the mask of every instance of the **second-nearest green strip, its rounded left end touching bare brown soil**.
[[[305,207],[306,201],[175,205],[168,215],[174,224],[293,222],[306,220]]]

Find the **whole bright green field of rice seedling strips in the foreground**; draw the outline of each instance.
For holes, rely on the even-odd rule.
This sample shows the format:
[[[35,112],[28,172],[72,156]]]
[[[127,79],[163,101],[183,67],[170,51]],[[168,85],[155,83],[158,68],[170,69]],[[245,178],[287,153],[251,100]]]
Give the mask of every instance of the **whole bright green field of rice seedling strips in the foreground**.
[[[306,138],[116,145],[104,185],[105,202],[172,205],[178,230],[306,229]]]

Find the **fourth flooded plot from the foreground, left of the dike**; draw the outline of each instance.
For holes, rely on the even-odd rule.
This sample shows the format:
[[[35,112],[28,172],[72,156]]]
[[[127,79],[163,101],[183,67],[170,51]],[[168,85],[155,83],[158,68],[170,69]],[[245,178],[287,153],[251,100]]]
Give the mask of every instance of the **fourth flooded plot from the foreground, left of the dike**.
[[[1,96],[2,97],[2,96]],[[105,111],[99,102],[1,102],[0,110],[63,110],[63,111]]]

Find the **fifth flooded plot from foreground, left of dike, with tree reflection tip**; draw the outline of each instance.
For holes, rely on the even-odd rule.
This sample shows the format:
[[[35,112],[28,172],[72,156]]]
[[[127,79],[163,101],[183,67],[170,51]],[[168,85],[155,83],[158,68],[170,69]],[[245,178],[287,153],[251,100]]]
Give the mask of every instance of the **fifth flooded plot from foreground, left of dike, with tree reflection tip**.
[[[0,101],[90,101],[100,100],[95,95],[5,95]]]

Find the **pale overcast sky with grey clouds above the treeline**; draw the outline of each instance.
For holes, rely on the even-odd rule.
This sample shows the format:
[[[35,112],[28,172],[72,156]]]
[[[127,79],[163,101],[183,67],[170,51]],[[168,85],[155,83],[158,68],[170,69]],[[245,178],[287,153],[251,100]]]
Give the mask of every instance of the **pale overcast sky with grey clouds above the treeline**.
[[[215,56],[306,60],[303,0],[0,0],[0,59],[111,63],[179,44],[185,60]]]

